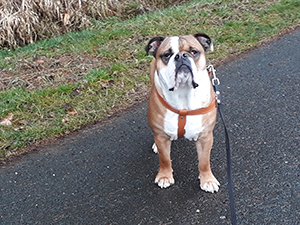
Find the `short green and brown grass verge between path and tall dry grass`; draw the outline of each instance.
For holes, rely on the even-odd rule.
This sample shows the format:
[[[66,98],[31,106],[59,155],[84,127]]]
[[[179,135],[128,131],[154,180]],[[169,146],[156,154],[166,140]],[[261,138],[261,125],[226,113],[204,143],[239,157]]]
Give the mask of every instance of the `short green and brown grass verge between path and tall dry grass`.
[[[198,0],[128,20],[95,21],[81,32],[1,50],[0,118],[9,113],[14,117],[11,126],[0,126],[0,156],[68,134],[143,100],[151,61],[144,46],[153,36],[205,32],[213,38],[215,51],[207,57],[215,64],[299,22],[296,0]],[[36,65],[37,56],[45,61],[41,66]],[[55,60],[67,56],[72,60],[51,69]],[[97,60],[96,66],[89,60]],[[26,73],[25,66],[31,64],[38,69]]]

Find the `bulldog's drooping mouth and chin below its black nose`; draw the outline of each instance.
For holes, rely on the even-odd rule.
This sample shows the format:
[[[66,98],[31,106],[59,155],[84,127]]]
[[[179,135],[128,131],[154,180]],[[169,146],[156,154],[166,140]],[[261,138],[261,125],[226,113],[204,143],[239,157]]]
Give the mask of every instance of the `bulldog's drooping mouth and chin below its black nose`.
[[[175,85],[169,91],[176,90],[179,85],[187,85],[191,88],[196,88],[199,85],[194,81],[193,70],[186,64],[181,64],[175,71]]]

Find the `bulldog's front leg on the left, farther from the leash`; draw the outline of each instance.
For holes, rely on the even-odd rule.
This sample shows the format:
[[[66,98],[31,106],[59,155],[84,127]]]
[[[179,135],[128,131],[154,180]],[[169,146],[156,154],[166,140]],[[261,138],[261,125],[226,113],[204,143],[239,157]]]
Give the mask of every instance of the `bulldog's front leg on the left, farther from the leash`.
[[[155,178],[155,183],[161,188],[167,188],[175,182],[170,156],[171,140],[166,136],[154,135],[154,141],[159,156],[159,170]]]

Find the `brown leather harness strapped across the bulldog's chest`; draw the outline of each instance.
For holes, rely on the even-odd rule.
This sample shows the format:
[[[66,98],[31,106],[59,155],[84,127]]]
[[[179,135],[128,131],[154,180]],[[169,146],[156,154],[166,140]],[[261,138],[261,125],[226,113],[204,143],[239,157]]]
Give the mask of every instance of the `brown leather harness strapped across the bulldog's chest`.
[[[158,93],[157,89],[156,89],[156,94],[157,97],[159,99],[159,101],[161,102],[161,104],[171,110],[172,112],[178,114],[178,137],[183,137],[185,134],[185,130],[184,130],[184,126],[186,123],[186,116],[192,116],[192,115],[203,115],[206,114],[208,112],[210,112],[211,110],[213,110],[214,108],[217,107],[217,99],[214,98],[212,100],[212,102],[210,103],[210,105],[206,108],[200,108],[200,109],[195,109],[195,110],[186,110],[186,109],[176,109],[173,106],[171,106],[169,103],[167,103],[163,97],[161,97],[161,95]]]

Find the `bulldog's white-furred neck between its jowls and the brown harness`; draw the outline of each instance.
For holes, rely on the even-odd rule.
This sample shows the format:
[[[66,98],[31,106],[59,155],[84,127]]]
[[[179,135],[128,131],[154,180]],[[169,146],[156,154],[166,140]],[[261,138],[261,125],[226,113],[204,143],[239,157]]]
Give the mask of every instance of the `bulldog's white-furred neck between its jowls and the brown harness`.
[[[160,79],[157,72],[155,72],[156,88],[166,102],[179,110],[195,110],[207,107],[211,103],[214,95],[206,69],[201,71],[197,83],[199,86],[196,88],[191,88],[189,85],[179,85],[176,90],[170,91],[164,80]]]

